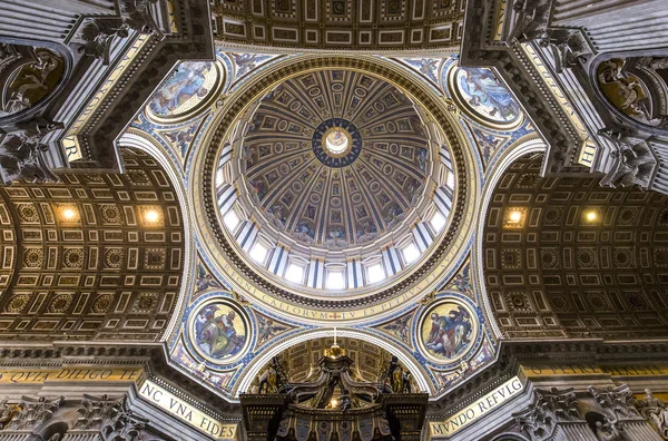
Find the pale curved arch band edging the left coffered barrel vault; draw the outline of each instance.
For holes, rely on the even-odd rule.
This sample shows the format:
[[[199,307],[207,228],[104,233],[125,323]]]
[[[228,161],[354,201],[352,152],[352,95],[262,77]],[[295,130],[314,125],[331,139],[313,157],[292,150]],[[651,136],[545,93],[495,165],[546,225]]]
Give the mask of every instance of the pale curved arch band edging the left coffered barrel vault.
[[[126,131],[117,141],[118,147],[134,147],[143,150],[150,155],[163,169],[167,173],[173,188],[177,195],[178,204],[181,210],[181,220],[184,225],[184,274],[181,276],[181,285],[176,301],[174,313],[169,318],[169,323],[163,331],[160,341],[169,341],[174,332],[178,330],[184,308],[186,306],[186,300],[189,297],[193,291],[194,275],[196,259],[194,258],[195,237],[193,235],[193,219],[190,218],[191,209],[188,205],[188,198],[186,189],[184,188],[183,177],[178,171],[178,166],[174,164],[174,160],[169,158],[169,155],[159,146],[153,136],[137,129],[129,129]]]

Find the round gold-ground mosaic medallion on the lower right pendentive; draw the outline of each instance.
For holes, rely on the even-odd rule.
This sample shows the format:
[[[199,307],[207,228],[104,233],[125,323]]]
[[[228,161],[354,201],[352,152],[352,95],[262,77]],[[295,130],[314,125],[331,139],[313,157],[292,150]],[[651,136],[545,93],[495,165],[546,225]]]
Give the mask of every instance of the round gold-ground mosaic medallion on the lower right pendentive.
[[[478,335],[478,320],[464,303],[448,298],[423,315],[418,336],[423,352],[439,363],[463,357]]]

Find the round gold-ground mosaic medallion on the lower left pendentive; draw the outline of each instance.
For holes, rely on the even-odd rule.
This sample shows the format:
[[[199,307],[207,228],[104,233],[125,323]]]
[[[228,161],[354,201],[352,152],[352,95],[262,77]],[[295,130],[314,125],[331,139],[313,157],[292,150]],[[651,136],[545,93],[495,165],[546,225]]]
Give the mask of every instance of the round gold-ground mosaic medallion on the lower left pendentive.
[[[195,351],[206,360],[227,364],[248,349],[250,330],[246,314],[226,298],[212,298],[188,318],[189,337]]]

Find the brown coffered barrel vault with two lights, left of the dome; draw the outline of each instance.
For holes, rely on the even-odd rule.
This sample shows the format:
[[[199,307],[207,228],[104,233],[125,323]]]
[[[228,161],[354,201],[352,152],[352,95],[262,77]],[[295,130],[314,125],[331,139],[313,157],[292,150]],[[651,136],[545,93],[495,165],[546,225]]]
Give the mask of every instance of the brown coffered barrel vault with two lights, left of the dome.
[[[0,187],[0,340],[155,341],[177,303],[184,228],[158,163]]]

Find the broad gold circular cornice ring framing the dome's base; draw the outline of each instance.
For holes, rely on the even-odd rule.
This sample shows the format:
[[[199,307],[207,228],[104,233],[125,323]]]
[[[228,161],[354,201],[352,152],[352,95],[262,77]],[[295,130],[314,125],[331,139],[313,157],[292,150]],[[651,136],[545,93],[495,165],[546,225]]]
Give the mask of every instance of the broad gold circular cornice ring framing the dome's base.
[[[265,306],[274,310],[274,312],[278,314],[296,315],[301,320],[304,320],[304,316],[299,315],[299,313],[294,313],[295,308],[303,313],[304,310],[302,310],[302,306],[308,307],[305,305],[306,302],[304,302],[304,298],[295,298],[294,295],[291,296],[291,293],[286,293],[271,284],[268,286],[263,285],[262,278],[248,267],[246,267],[246,273],[239,272],[233,267],[233,265],[244,265],[244,263],[239,259],[238,255],[234,252],[229,252],[229,239],[226,237],[226,233],[220,228],[217,214],[213,209],[215,206],[212,202],[215,186],[213,171],[223,144],[238,130],[235,122],[237,122],[262,96],[268,92],[273,86],[279,81],[323,68],[346,68],[357,70],[380,77],[395,87],[399,87],[406,92],[411,99],[420,102],[429,112],[430,118],[442,127],[448,137],[448,144],[455,157],[454,163],[458,173],[456,208],[453,209],[452,224],[450,226],[450,232],[445,235],[445,239],[440,244],[441,246],[436,247],[433,252],[432,258],[430,258],[422,267],[416,268],[416,271],[409,276],[411,277],[409,278],[409,282],[406,282],[406,280],[400,281],[400,283],[391,286],[390,290],[364,298],[365,302],[369,302],[367,304],[381,304],[383,300],[386,301],[390,298],[392,304],[386,308],[383,308],[382,314],[379,314],[377,312],[374,313],[376,316],[382,315],[386,317],[389,313],[394,312],[397,306],[404,306],[404,304],[407,303],[405,301],[412,296],[433,290],[444,275],[451,275],[450,273],[454,271],[454,268],[451,267],[439,267],[438,264],[441,262],[443,255],[451,255],[450,259],[456,261],[464,251],[462,244],[464,244],[472,234],[471,219],[473,218],[473,212],[475,209],[474,202],[479,197],[480,187],[480,177],[478,176],[478,173],[475,173],[475,167],[473,165],[473,149],[468,145],[468,138],[465,137],[462,127],[456,121],[454,114],[446,110],[446,102],[429,87],[415,81],[409,72],[390,61],[379,60],[369,56],[338,56],[336,58],[322,58],[313,55],[299,56],[276,62],[276,65],[267,68],[263,75],[253,78],[244,85],[244,87],[239,88],[228,97],[223,106],[217,109],[217,115],[215,115],[214,120],[210,122],[210,129],[202,141],[203,148],[198,149],[196,156],[193,158],[194,165],[190,168],[193,173],[188,176],[188,186],[190,187],[193,200],[202,202],[202,204],[195,204],[193,207],[195,210],[194,218],[198,219],[196,228],[199,237],[203,239],[203,244],[207,245],[203,251],[212,262],[215,262],[218,273],[224,275],[226,281],[232,283],[235,290],[246,294],[247,298],[264,303]],[[445,246],[442,246],[443,244]],[[450,244],[450,246],[448,244]],[[226,248],[226,252],[222,253],[220,248]],[[434,258],[434,256],[440,256],[440,258]],[[224,266],[223,262],[226,262]],[[436,268],[435,271],[434,267]],[[428,270],[433,271],[433,273],[429,274]],[[419,280],[424,281],[424,286],[418,286],[416,281]],[[415,288],[416,286],[419,288]],[[399,296],[405,293],[410,293],[406,295],[410,295],[411,297],[400,300]],[[287,294],[288,298],[286,305],[283,304],[283,302],[286,302],[286,297],[283,297],[285,294]],[[379,294],[385,296],[382,297],[379,296]],[[271,301],[274,301],[274,304],[281,303],[284,308],[271,306],[268,304]],[[337,306],[351,307],[351,305],[343,303]],[[331,311],[336,310],[331,308]],[[362,311],[363,310],[360,310],[358,317],[363,316]],[[320,316],[320,318],[322,318],[322,316]],[[325,320],[330,318],[327,317]],[[366,320],[369,320],[369,316],[366,316]],[[350,322],[354,321],[358,321],[358,318],[350,318]]]

